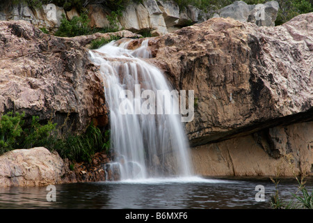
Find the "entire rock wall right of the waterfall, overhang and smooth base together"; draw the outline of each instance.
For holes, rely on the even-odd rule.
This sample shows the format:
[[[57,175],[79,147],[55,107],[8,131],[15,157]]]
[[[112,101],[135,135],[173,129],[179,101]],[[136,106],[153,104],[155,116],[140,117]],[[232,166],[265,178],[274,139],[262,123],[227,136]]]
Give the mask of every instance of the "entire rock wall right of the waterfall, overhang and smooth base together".
[[[203,151],[216,153],[217,162],[229,165],[225,165],[229,171],[214,172],[214,162],[195,160],[197,165],[209,165],[200,168],[207,169],[206,174],[274,174],[269,167],[288,153],[294,155],[298,171],[310,172],[312,21],[313,13],[309,13],[268,28],[214,18],[150,40],[151,63],[163,70],[176,89],[195,92],[195,118],[186,123],[195,157],[198,150],[202,151],[199,159],[204,159]],[[241,144],[243,139],[250,143]],[[232,162],[236,159],[244,166],[240,171],[230,169],[227,149]],[[260,157],[254,162],[258,170],[243,162],[250,157],[243,155],[245,151]],[[264,164],[261,152],[268,160]],[[263,167],[271,171],[261,171]]]

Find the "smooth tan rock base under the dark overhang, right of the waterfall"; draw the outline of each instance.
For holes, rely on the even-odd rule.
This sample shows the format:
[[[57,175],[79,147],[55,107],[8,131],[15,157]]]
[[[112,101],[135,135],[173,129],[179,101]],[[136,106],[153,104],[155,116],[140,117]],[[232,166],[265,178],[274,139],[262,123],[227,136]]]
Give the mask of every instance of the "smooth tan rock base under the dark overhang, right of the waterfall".
[[[313,122],[281,125],[270,129],[279,157],[249,134],[191,150],[195,173],[202,176],[294,176],[312,175]],[[268,155],[271,153],[271,155]],[[290,156],[291,155],[291,156]],[[289,160],[291,157],[291,160]]]

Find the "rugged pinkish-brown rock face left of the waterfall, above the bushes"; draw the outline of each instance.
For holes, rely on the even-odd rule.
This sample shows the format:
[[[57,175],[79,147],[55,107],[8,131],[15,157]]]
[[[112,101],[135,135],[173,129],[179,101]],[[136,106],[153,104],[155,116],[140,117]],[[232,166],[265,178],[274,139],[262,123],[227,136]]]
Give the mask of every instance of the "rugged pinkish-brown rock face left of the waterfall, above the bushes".
[[[129,31],[115,33],[136,36]],[[83,47],[97,33],[56,38],[29,22],[0,22],[0,114],[9,111],[52,118],[62,131],[81,132],[90,121],[107,124],[104,86]],[[66,123],[65,123],[66,121]]]

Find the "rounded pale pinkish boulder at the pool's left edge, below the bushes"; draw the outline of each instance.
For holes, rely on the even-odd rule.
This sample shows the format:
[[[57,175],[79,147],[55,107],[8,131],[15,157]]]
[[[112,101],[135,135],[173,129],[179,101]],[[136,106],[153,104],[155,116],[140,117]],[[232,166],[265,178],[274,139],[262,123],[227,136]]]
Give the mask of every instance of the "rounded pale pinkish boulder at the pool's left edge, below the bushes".
[[[0,156],[0,187],[43,186],[62,183],[64,162],[57,153],[37,147]]]

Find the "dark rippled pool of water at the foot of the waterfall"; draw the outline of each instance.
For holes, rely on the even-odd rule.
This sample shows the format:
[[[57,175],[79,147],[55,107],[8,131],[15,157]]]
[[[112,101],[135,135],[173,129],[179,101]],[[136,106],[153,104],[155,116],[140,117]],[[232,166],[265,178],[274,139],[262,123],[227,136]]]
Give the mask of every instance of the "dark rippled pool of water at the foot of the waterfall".
[[[256,185],[264,185],[265,202],[255,201]],[[311,190],[312,179],[307,180]],[[292,199],[295,180],[280,180],[282,199]],[[264,179],[146,180],[56,185],[56,202],[46,200],[46,187],[0,188],[0,208],[270,208],[275,185]]]

